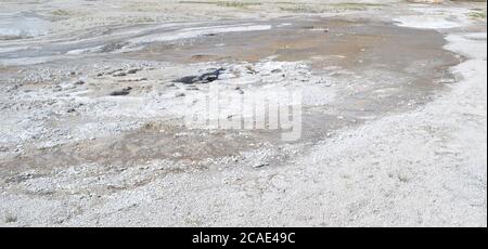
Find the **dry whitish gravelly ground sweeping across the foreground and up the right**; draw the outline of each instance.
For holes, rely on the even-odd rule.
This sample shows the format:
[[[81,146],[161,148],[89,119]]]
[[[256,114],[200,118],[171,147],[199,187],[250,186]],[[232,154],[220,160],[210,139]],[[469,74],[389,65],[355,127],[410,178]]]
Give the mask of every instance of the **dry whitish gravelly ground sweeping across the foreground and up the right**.
[[[437,13],[413,8],[420,14],[397,16],[399,25],[445,29],[445,21],[429,23]],[[452,68],[462,80],[414,112],[342,130],[305,155],[290,145],[243,156],[288,158],[259,169],[219,158],[182,173],[168,173],[185,166],[166,160],[26,172],[0,193],[2,214],[16,220],[0,225],[487,226],[487,36],[453,22],[446,49],[467,58]],[[133,187],[106,193],[125,186]]]

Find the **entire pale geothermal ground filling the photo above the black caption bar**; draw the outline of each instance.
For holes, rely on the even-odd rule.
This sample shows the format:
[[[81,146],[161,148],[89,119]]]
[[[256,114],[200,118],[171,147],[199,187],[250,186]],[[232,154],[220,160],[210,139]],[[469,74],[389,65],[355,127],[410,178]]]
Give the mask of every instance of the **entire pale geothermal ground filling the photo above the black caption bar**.
[[[486,3],[0,4],[1,226],[487,225]]]

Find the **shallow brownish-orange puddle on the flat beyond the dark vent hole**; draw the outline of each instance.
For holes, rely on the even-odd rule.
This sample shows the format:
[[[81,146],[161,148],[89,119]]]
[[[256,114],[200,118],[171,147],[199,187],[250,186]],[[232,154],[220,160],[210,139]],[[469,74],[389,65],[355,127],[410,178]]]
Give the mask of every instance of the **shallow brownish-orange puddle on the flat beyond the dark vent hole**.
[[[324,61],[336,66],[363,69],[368,65],[402,70],[415,61],[452,61],[442,50],[445,40],[432,30],[402,28],[382,23],[354,23],[342,19],[280,21],[270,30],[213,34],[198,39],[155,42],[124,57],[178,63],[246,61],[275,56],[279,61]],[[440,57],[439,57],[440,56]],[[321,62],[322,61],[322,62]],[[325,62],[328,63],[328,62]],[[419,68],[420,69],[420,68]]]

